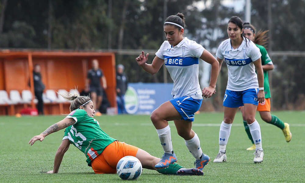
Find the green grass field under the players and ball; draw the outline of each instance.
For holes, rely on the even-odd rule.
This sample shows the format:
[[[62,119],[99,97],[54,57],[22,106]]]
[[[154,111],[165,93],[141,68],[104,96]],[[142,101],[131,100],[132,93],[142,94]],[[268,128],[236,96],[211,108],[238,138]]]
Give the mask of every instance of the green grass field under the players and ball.
[[[258,113],[257,113],[258,114]],[[219,126],[223,113],[200,113],[195,116],[193,130],[198,134],[203,152],[211,162],[204,176],[162,175],[144,169],[137,182],[305,182],[305,111],[273,112],[290,124],[292,140],[285,141],[282,130],[263,122],[259,115],[264,148],[264,161],[253,163],[251,145],[238,112],[227,145],[227,162],[213,163],[218,153]],[[55,152],[63,131],[53,133],[33,146],[28,141],[64,116],[0,117],[0,182],[122,182],[117,174],[94,174],[87,166],[85,155],[73,145],[66,152],[59,174],[45,174],[53,169]],[[113,138],[138,146],[161,157],[163,154],[156,130],[149,116],[121,115],[96,117],[101,128]],[[184,140],[170,122],[172,142],[178,163],[193,167],[194,158]]]

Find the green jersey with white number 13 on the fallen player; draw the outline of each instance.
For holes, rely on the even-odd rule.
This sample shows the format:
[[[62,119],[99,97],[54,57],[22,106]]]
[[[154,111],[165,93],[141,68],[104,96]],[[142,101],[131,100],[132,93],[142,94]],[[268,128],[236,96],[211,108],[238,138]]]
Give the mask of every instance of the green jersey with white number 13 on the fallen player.
[[[73,118],[76,122],[66,127],[63,140],[69,139],[86,155],[88,166],[91,166],[91,161],[101,154],[107,145],[116,140],[102,131],[99,122],[84,109],[72,111],[67,118]]]

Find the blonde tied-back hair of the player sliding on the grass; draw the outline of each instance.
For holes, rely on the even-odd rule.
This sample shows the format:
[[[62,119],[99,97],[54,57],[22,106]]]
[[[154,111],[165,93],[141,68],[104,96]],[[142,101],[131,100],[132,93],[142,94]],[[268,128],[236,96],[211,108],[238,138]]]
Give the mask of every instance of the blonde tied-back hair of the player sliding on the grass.
[[[64,99],[72,101],[70,105],[70,112],[74,111],[75,109],[78,109],[80,106],[86,106],[86,104],[91,100],[89,96],[79,96],[77,92],[72,94],[67,91],[66,93],[58,94]]]

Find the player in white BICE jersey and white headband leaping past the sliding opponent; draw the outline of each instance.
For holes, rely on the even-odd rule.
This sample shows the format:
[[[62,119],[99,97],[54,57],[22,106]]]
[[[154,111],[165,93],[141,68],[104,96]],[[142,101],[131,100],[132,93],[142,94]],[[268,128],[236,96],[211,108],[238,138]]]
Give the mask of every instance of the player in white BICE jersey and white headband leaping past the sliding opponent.
[[[168,121],[174,120],[178,135],[184,138],[185,145],[196,159],[195,167],[202,170],[210,157],[203,154],[198,135],[192,130],[192,121],[194,113],[201,106],[202,96],[211,97],[216,92],[219,63],[202,45],[183,37],[184,27],[183,14],[167,17],[163,27],[167,40],[156,52],[152,64],[146,63],[149,54],[144,55],[143,51],[136,61],[150,74],[156,74],[164,64],[174,81],[171,92],[173,99],[161,104],[150,116],[164,150],[162,159],[155,167],[164,168],[177,161],[168,125]],[[212,65],[210,84],[203,90],[198,81],[198,58]]]

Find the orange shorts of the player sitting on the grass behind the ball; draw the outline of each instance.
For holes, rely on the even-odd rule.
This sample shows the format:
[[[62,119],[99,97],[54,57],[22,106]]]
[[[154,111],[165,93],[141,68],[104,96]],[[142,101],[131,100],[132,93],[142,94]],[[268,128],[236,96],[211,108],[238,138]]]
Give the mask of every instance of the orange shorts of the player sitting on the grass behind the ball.
[[[117,162],[124,156],[135,156],[138,149],[125,142],[114,141],[107,145],[102,154],[92,160],[91,167],[96,174],[115,174]]]

